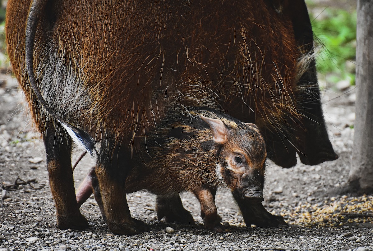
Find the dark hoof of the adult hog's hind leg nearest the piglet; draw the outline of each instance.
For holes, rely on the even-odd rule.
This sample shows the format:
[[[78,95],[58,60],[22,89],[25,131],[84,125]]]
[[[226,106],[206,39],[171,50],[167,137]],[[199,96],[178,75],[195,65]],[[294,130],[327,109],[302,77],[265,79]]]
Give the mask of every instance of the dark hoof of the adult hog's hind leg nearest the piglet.
[[[130,221],[122,221],[120,223],[107,223],[110,231],[118,235],[135,235],[138,233],[146,232],[149,230],[148,225],[146,225],[141,220],[131,218]]]

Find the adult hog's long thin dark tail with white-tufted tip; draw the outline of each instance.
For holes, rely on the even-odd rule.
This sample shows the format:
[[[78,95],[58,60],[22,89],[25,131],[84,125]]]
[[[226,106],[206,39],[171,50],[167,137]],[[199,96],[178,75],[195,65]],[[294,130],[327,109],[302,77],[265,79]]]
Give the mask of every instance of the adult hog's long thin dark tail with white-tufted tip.
[[[25,41],[25,52],[26,52],[26,69],[31,84],[32,90],[34,91],[38,101],[46,109],[54,119],[56,119],[65,128],[66,132],[73,139],[75,144],[79,147],[86,149],[90,154],[94,152],[97,153],[95,148],[95,140],[87,132],[79,129],[78,127],[72,125],[71,123],[63,120],[56,112],[51,109],[43,95],[41,94],[38,85],[36,84],[35,74],[34,74],[34,44],[35,44],[35,34],[40,19],[40,15],[47,0],[34,0],[31,3],[30,10],[28,13],[28,19],[26,24],[26,41]]]

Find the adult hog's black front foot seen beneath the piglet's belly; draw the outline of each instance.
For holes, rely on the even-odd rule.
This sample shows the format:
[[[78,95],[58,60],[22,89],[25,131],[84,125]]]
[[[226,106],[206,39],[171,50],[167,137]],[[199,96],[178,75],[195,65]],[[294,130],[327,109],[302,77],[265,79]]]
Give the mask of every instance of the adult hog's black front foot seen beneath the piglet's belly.
[[[193,216],[183,207],[179,194],[157,195],[156,212],[158,220],[164,217],[166,222],[194,224]]]

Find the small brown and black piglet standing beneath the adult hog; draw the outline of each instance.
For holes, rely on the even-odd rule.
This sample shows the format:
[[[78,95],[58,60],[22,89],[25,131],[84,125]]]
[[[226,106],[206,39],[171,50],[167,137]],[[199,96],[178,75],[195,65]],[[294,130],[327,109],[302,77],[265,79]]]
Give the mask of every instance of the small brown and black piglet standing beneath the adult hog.
[[[283,218],[265,210],[257,213],[252,205],[263,207],[266,145],[255,124],[242,123],[214,110],[191,110],[185,115],[172,110],[148,132],[132,159],[123,192],[147,189],[163,197],[190,191],[200,201],[205,228],[222,232],[215,205],[219,186],[231,190],[248,226],[286,225]],[[76,194],[81,205],[92,194],[100,205],[101,195],[95,168],[79,186]],[[246,205],[250,205],[246,207]],[[184,208],[173,208],[183,221],[194,223]],[[169,221],[174,213],[156,208],[158,219]]]

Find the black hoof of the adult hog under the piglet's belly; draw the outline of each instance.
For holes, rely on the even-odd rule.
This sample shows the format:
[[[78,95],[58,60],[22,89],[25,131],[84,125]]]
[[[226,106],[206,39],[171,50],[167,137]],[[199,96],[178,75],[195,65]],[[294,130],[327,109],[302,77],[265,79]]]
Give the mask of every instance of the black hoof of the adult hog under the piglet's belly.
[[[167,201],[165,203],[160,203],[157,200],[156,203],[156,213],[158,220],[164,218],[165,222],[178,222],[182,224],[194,225],[194,218],[191,213],[186,210],[182,204],[181,206],[176,207],[175,204],[172,204],[172,201]]]

